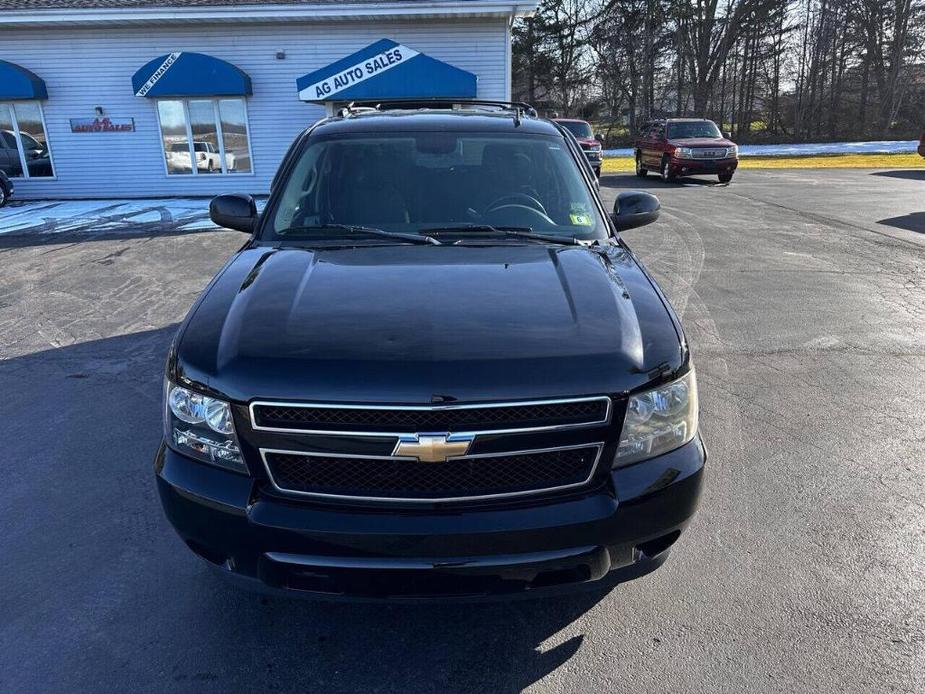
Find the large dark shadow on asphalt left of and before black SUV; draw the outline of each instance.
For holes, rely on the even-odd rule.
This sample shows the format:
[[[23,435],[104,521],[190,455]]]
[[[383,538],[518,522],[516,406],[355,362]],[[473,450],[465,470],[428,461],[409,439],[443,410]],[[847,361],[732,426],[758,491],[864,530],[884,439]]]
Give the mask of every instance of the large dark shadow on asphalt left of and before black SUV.
[[[0,505],[13,529],[0,533],[9,691],[519,692],[581,648],[569,627],[600,590],[382,605],[226,585],[176,537],[155,489],[176,329],[0,361],[4,453],[23,463],[8,466]]]

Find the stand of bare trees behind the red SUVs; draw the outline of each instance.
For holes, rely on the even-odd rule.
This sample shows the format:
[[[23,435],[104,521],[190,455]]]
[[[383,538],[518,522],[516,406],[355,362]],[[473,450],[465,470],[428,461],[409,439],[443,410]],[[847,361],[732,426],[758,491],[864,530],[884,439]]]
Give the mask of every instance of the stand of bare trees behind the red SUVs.
[[[917,135],[925,0],[545,0],[517,93],[565,114],[708,116],[736,137]]]

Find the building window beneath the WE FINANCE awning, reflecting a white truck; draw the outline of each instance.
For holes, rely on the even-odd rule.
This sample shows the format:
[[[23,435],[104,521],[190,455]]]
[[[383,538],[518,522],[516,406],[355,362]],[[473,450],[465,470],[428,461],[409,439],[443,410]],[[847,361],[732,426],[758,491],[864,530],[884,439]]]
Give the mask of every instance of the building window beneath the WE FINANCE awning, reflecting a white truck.
[[[244,99],[165,99],[157,115],[169,175],[251,172]]]

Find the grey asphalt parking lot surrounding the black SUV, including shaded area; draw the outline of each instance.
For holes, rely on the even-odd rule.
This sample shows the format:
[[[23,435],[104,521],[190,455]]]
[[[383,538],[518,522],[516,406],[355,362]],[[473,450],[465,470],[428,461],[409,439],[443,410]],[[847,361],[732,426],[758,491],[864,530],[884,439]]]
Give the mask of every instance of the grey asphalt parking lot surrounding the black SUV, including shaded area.
[[[925,169],[602,190],[639,187],[663,217],[626,239],[693,344],[708,486],[659,571],[544,602],[226,587],[151,459],[177,322],[244,237],[0,236],[0,691],[925,691]]]

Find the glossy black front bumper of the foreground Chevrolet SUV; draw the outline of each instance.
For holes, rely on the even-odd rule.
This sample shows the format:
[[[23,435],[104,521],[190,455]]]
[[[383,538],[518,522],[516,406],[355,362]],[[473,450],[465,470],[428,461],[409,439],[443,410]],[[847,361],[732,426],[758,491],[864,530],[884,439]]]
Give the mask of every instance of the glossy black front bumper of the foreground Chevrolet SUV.
[[[613,471],[598,489],[491,508],[281,499],[163,444],[155,469],[180,537],[229,577],[329,596],[419,599],[556,592],[641,575],[687,527],[705,460],[698,436]]]

